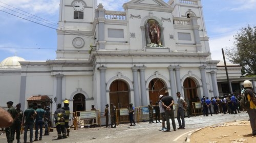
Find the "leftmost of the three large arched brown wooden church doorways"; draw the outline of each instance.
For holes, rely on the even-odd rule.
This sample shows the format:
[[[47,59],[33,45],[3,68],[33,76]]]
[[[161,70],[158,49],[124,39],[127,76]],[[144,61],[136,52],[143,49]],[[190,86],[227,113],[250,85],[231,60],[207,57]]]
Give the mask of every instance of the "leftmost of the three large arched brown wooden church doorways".
[[[110,103],[120,108],[127,108],[129,105],[130,89],[122,80],[115,80],[110,85]]]

